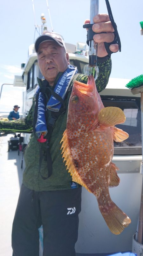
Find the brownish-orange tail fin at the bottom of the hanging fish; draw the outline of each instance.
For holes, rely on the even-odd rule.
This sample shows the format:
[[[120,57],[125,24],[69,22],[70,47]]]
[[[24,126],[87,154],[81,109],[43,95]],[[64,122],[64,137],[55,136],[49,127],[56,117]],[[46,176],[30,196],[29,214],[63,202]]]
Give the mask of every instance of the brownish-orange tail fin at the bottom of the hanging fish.
[[[130,223],[130,218],[115,203],[110,200],[106,205],[99,205],[100,212],[110,231],[119,235]]]

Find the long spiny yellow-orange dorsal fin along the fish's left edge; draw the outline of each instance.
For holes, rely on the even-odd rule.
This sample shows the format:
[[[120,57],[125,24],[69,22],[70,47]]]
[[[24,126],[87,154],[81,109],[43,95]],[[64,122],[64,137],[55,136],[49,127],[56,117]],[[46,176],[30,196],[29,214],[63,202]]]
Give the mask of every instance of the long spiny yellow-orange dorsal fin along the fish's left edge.
[[[67,131],[65,130],[63,133],[63,137],[61,142],[62,146],[61,146],[61,150],[62,150],[62,154],[63,154],[63,158],[65,162],[65,166],[67,166],[67,170],[68,173],[71,174],[72,176],[72,180],[74,182],[77,182],[78,184],[80,184],[81,186],[85,187],[85,189],[87,189],[89,192],[91,192],[88,187],[85,185],[85,182],[83,182],[83,180],[81,179],[81,177],[78,174],[78,171],[76,169],[76,166],[74,164],[74,160],[72,158],[72,154],[71,154],[71,149],[69,147],[69,143],[68,143],[68,136],[67,136]]]

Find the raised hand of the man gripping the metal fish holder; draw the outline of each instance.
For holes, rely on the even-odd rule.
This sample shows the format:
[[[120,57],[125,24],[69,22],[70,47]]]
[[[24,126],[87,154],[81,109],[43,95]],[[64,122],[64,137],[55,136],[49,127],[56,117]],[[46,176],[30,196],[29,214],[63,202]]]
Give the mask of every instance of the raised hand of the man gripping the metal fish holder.
[[[96,33],[106,32],[103,34],[97,34],[93,36],[93,40],[98,43],[98,57],[107,56],[107,52],[105,49],[104,42],[111,43],[114,40],[114,28],[112,27],[109,16],[106,13],[98,14],[93,18],[93,22],[95,23],[92,26],[92,30]],[[89,19],[85,20],[85,24],[90,23]],[[111,44],[109,49],[112,52],[117,52],[119,50],[118,44]]]

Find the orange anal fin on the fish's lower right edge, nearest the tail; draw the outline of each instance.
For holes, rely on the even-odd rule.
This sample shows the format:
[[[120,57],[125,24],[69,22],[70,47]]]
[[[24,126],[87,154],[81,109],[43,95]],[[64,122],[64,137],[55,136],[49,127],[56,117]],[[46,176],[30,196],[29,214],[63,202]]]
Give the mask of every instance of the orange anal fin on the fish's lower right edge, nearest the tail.
[[[110,178],[108,181],[109,188],[117,187],[120,183],[120,178],[117,175],[117,172],[119,168],[111,162],[110,165]]]

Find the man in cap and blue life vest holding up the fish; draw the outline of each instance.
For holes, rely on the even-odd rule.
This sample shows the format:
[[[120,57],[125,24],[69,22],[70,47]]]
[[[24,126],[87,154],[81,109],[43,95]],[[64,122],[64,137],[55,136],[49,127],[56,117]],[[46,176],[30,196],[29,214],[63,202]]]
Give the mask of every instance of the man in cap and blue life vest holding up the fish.
[[[114,29],[109,16],[99,14],[94,17],[94,22],[94,32],[106,32],[94,35],[94,40],[99,43],[96,86],[101,91],[106,87],[111,73],[111,58],[104,42],[109,43],[112,52],[118,51],[119,47],[113,42]],[[44,234],[43,256],[75,256],[81,186],[72,182],[66,171],[60,141],[66,128],[73,81],[87,82],[87,76],[78,74],[76,68],[69,65],[65,43],[55,33],[47,32],[39,36],[35,50],[44,80],[38,80],[39,88],[34,97],[36,104],[35,107],[33,104],[34,109],[31,108],[25,123],[24,120],[17,121],[18,130],[19,127],[21,132],[33,129],[33,133],[24,153],[26,167],[12,228],[13,256],[39,256],[38,228],[41,225]],[[57,91],[57,96],[58,88],[61,90]],[[61,99],[63,95],[64,100]],[[12,125],[0,121],[0,131],[6,131],[8,127],[12,129]],[[72,214],[69,214],[69,208],[74,209]]]

